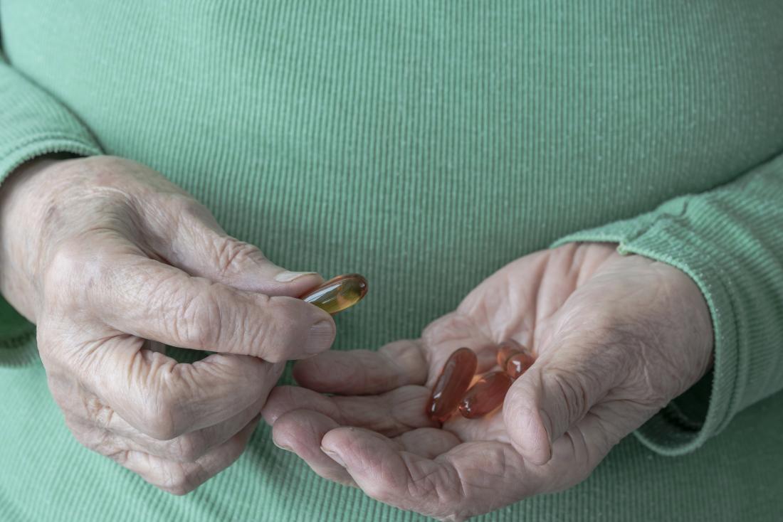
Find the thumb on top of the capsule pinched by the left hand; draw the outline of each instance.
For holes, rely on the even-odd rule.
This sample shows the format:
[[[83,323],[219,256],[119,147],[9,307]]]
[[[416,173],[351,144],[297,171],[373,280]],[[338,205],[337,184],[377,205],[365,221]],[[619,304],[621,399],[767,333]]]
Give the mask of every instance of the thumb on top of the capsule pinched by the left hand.
[[[275,265],[258,247],[226,234],[211,214],[183,215],[178,221],[163,254],[190,275],[270,296],[298,297],[323,283],[315,272]]]

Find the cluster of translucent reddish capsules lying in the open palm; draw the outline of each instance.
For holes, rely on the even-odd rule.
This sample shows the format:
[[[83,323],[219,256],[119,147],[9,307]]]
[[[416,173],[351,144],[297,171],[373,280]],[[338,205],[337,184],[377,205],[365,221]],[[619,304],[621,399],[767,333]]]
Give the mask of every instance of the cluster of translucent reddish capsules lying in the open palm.
[[[467,419],[476,419],[503,405],[506,392],[535,359],[530,351],[513,339],[497,345],[500,371],[485,373],[478,380],[478,357],[470,348],[460,348],[443,365],[427,404],[427,416],[440,423],[457,410]],[[473,383],[473,386],[471,386]]]

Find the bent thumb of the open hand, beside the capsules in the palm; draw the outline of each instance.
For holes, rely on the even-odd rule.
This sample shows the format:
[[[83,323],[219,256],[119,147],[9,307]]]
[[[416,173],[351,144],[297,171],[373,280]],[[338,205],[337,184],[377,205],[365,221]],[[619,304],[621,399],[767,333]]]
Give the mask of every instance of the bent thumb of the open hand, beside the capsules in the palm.
[[[509,389],[503,421],[511,445],[532,464],[552,457],[557,441],[614,385],[617,371],[600,344],[554,341]]]

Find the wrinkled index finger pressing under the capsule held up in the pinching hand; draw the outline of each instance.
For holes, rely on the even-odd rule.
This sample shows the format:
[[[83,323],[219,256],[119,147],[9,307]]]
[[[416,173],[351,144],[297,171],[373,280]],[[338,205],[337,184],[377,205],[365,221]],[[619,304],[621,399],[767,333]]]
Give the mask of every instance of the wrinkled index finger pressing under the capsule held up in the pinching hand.
[[[315,355],[334,340],[330,315],[294,297],[236,290],[135,254],[113,263],[93,296],[100,319],[121,332],[269,362]]]

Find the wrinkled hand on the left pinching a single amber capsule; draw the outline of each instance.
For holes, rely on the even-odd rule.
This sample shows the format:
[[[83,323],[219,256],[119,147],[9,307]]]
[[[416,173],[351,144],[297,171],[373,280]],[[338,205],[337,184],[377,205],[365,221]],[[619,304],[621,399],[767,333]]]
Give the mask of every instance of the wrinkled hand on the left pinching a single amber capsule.
[[[283,362],[334,339],[330,315],[293,297],[319,275],[273,265],[143,165],[35,160],[0,212],[2,293],[38,324],[68,427],[164,490],[229,466]],[[178,364],[163,344],[217,353]]]

